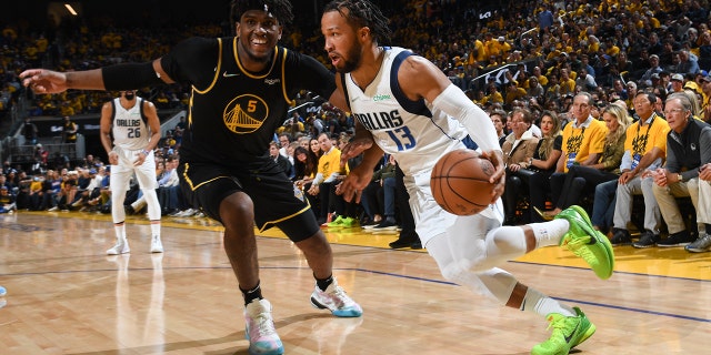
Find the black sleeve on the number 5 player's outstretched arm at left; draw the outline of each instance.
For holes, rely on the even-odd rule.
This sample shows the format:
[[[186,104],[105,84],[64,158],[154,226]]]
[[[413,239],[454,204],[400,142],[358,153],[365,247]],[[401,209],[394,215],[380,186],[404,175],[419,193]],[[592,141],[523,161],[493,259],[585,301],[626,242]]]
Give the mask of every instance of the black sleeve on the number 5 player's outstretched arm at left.
[[[152,62],[123,63],[101,68],[103,88],[112,90],[136,90],[143,87],[166,84],[156,71]]]

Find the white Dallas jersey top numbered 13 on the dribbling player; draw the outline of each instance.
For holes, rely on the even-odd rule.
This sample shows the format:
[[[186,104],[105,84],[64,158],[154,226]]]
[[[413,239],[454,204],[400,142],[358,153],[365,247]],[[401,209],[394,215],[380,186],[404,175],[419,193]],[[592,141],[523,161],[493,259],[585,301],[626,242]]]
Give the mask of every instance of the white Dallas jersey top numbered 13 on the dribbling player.
[[[464,126],[434,110],[431,102],[411,101],[398,84],[398,69],[412,52],[384,48],[380,72],[363,92],[347,73],[344,85],[353,118],[368,129],[382,150],[394,155],[405,175],[430,171],[437,160],[469,135]],[[434,129],[433,129],[434,128]]]

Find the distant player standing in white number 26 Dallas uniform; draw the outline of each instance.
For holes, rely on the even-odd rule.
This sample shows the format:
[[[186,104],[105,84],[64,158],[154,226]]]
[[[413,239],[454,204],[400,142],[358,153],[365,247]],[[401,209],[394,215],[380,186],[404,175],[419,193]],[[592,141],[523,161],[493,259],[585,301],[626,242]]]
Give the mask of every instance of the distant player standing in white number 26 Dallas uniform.
[[[113,135],[113,141],[111,141]],[[121,91],[120,97],[101,108],[101,144],[111,164],[111,216],[116,231],[116,245],[108,255],[131,251],[126,239],[123,201],[133,173],[146,196],[148,219],[151,221],[151,253],[162,253],[160,240],[160,203],[156,189],[156,160],[153,149],[160,141],[160,120],[152,102],[138,98],[134,90]]]

